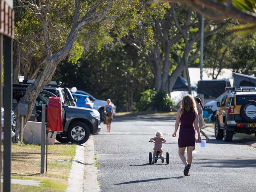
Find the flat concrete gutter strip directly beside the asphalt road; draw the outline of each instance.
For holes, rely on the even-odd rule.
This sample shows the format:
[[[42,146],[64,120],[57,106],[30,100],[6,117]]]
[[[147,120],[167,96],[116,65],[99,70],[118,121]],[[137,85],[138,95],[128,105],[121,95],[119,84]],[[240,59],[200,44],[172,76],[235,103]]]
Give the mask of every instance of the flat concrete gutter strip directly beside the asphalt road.
[[[90,136],[89,140],[85,143],[86,153],[84,153],[85,169],[84,169],[84,181],[83,191],[99,192],[100,185],[98,184],[97,174],[98,169],[95,167],[95,151],[93,136]]]

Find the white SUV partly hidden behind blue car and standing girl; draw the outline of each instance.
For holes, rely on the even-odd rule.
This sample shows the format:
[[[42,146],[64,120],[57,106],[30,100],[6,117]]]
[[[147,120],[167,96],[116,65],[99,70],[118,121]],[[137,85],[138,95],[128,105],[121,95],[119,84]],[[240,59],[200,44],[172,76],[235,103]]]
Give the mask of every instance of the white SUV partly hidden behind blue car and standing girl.
[[[106,105],[106,101],[96,99],[95,97],[93,97],[89,93],[87,93],[85,91],[82,91],[82,90],[77,90],[76,93],[77,94],[83,94],[83,95],[89,95],[90,100],[94,103],[93,108],[96,109],[97,111],[99,111],[100,119],[103,121],[103,119],[104,119],[104,107]],[[111,105],[113,106],[113,115],[115,115],[116,114],[116,106],[113,103],[111,103]]]

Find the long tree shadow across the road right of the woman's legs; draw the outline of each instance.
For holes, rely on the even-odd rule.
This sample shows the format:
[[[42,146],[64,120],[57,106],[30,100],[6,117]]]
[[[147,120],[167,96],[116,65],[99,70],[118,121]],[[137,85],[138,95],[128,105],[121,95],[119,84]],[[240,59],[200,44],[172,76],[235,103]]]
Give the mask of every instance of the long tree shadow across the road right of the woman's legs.
[[[202,162],[193,162],[201,167],[218,168],[256,168],[256,159],[198,159]]]

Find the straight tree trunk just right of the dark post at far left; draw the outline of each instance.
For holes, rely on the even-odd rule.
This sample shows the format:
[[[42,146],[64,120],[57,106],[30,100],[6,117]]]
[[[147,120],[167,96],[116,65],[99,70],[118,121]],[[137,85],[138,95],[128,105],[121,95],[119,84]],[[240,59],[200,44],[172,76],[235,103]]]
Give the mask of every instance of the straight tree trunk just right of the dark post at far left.
[[[13,43],[13,83],[19,83],[20,77],[20,47],[17,41]]]

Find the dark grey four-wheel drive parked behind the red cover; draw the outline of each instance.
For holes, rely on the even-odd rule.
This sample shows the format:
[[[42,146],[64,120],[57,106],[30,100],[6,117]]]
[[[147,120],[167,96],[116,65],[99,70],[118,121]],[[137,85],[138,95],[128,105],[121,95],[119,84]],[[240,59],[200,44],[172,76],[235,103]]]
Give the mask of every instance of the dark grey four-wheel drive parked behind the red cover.
[[[28,84],[13,84],[13,98],[20,98],[25,94]],[[59,142],[85,143],[91,134],[100,131],[100,114],[94,109],[70,106],[70,102],[64,99],[63,90],[60,87],[44,87],[39,94],[29,121],[41,122],[42,104],[48,103],[49,97],[61,97],[63,132],[57,133]],[[16,104],[17,106],[17,104]],[[13,108],[16,106],[13,104]]]

